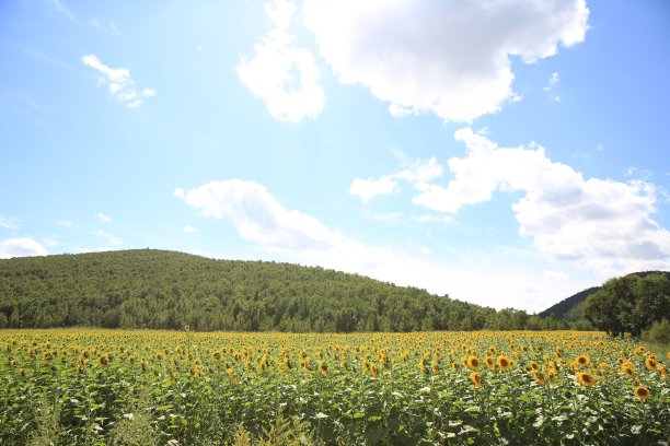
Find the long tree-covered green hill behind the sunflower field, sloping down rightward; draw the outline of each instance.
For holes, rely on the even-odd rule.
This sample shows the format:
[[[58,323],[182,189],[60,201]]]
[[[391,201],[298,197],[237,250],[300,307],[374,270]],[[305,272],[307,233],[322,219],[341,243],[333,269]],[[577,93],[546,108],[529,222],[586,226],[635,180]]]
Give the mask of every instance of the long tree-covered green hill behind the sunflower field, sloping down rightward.
[[[509,317],[528,319],[523,312]],[[0,327],[477,329],[492,308],[322,268],[152,249],[0,260]],[[518,327],[522,328],[522,327]]]

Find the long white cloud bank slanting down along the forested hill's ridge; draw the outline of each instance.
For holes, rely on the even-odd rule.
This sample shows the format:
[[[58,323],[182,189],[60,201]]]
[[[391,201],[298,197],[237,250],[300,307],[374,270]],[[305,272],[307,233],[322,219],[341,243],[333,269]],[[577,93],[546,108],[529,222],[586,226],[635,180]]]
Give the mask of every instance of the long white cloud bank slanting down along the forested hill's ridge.
[[[516,254],[504,253],[504,260],[497,261],[492,260],[495,255],[486,253],[470,260],[453,259],[453,265],[447,265],[425,259],[430,254],[426,247],[414,256],[362,244],[314,216],[286,209],[254,181],[210,181],[189,190],[177,188],[174,196],[204,216],[229,219],[242,238],[266,251],[268,260],[366,274],[497,308],[541,310],[575,292],[575,282],[552,283],[551,290],[546,290],[546,280],[540,273],[515,271],[516,261],[510,257],[519,257]],[[524,253],[523,258],[527,257]]]

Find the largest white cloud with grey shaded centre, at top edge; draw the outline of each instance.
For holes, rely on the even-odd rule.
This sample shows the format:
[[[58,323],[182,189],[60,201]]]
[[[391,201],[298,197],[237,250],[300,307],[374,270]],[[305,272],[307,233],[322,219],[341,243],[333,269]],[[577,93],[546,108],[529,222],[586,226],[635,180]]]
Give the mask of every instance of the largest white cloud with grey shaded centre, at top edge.
[[[510,56],[530,63],[585,38],[585,0],[305,0],[303,16],[339,81],[394,115],[470,121],[517,101]]]

